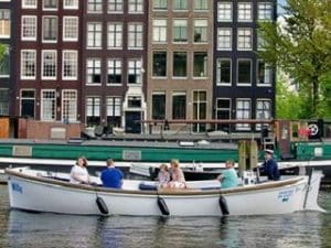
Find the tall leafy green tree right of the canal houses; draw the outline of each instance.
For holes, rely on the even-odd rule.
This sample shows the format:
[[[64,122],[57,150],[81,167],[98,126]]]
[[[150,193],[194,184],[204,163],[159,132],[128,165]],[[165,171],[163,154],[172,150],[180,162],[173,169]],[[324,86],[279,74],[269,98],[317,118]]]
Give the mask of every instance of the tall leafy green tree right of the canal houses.
[[[284,25],[259,23],[259,56],[297,82],[309,105],[306,118],[321,117],[331,75],[331,1],[287,0],[284,10]]]

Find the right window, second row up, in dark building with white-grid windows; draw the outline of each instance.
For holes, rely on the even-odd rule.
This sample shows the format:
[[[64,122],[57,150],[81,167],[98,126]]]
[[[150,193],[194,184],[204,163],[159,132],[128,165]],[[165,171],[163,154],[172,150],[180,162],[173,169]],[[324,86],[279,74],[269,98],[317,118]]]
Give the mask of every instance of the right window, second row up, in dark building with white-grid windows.
[[[78,52],[63,51],[62,78],[64,80],[77,80],[78,78]]]

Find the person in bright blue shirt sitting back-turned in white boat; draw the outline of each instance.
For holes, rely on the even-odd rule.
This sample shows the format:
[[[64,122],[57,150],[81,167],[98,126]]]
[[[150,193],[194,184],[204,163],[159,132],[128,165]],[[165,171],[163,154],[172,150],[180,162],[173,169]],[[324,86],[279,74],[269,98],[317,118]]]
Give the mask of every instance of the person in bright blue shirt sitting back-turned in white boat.
[[[105,187],[121,188],[124,174],[122,172],[115,168],[114,160],[107,160],[107,168],[102,171],[100,179]]]

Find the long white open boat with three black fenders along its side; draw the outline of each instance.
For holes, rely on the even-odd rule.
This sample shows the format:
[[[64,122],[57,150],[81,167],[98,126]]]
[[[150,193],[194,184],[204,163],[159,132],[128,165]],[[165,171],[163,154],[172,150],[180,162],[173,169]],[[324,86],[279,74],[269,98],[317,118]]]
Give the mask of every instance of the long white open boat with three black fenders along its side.
[[[223,216],[270,215],[323,211],[317,204],[320,171],[310,176],[220,190],[217,181],[188,182],[185,190],[139,190],[141,181],[126,180],[122,190],[72,184],[68,174],[29,168],[6,169],[11,208],[74,215]]]

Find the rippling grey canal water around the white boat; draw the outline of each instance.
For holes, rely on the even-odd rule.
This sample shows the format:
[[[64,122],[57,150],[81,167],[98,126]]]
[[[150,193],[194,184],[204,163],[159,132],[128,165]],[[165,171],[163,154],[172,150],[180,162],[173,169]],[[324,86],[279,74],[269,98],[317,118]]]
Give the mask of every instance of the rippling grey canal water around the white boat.
[[[0,185],[0,248],[328,248],[330,191],[320,193],[319,204],[330,213],[227,218],[87,217],[10,211],[7,186]]]

